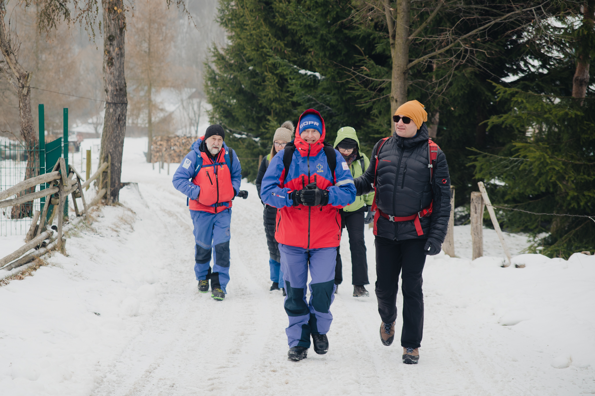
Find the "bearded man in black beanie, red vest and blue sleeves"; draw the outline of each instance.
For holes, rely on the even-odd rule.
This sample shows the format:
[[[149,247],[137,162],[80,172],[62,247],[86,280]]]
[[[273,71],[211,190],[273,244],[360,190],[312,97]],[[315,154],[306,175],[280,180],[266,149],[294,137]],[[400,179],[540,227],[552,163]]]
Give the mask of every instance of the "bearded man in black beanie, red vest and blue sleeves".
[[[210,279],[211,297],[220,301],[225,298],[229,282],[231,200],[236,195],[248,197],[248,191],[240,191],[240,161],[224,139],[225,130],[221,125],[206,128],[205,136],[192,144],[192,150],[173,178],[174,187],[189,200],[196,242],[194,271],[198,290],[208,292]]]

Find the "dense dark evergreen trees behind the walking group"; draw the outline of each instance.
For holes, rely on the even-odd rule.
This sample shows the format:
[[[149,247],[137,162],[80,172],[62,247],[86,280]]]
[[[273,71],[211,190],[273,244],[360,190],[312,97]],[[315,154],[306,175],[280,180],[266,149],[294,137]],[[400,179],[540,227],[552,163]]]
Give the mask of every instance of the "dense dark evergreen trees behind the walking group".
[[[502,205],[593,214],[594,9],[593,0],[221,0],[229,44],[211,49],[211,121],[245,137],[230,145],[255,158],[281,122],[313,107],[328,140],[349,125],[370,150],[396,106],[418,99],[456,205],[483,180]],[[595,245],[595,222],[500,212],[509,230],[549,232],[534,249],[550,256]]]

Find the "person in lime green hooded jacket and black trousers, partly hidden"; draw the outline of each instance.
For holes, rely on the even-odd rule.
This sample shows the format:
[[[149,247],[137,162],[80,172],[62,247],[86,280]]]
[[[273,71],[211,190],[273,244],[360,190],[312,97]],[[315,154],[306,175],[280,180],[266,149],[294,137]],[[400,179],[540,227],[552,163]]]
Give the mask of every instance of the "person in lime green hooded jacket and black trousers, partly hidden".
[[[368,169],[369,159],[359,150],[359,139],[352,127],[343,127],[337,131],[337,139],[333,146],[339,150],[353,178],[364,174]],[[364,243],[364,224],[374,219],[374,213],[369,212],[374,202],[374,191],[363,196],[355,197],[355,202],[342,209],[343,227],[349,234],[349,250],[351,251],[353,297],[369,296],[364,287],[368,281],[368,261],[366,259],[366,245]],[[368,216],[365,216],[368,212]],[[337,247],[337,265],[335,267],[335,284],[343,281],[340,247]],[[336,293],[336,292],[335,292]]]

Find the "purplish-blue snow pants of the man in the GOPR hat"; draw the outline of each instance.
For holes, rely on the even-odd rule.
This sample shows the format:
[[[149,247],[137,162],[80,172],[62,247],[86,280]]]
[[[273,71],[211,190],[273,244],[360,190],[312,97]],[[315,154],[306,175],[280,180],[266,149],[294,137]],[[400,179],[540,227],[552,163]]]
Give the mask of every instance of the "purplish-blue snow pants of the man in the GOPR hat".
[[[310,347],[310,334],[327,334],[333,315],[328,310],[334,300],[336,247],[302,249],[279,244],[281,270],[285,281],[285,312],[289,327],[285,329],[289,347]],[[306,303],[306,284],[310,269],[310,301]]]

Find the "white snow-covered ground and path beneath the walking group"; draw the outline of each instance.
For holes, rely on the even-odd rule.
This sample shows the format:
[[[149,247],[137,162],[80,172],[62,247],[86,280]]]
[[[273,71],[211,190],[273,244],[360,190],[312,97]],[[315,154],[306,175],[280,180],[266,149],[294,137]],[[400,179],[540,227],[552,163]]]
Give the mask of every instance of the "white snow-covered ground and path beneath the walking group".
[[[473,262],[469,228],[456,254],[428,257],[418,365],[397,340],[381,344],[373,294],[374,235],[366,230],[368,287],[352,297],[348,242],[325,355],[286,359],[287,316],[269,291],[256,188],[234,200],[231,281],[223,302],[198,293],[192,222],[171,184],[176,165],[146,164],[145,139],[126,139],[123,206],[96,212],[33,276],[0,287],[4,395],[578,395],[595,393],[595,256],[568,261],[502,248],[484,230]],[[93,164],[93,169],[96,164]],[[507,237],[513,254],[527,241]],[[400,327],[402,298],[397,307]]]

